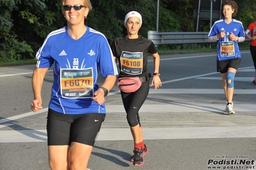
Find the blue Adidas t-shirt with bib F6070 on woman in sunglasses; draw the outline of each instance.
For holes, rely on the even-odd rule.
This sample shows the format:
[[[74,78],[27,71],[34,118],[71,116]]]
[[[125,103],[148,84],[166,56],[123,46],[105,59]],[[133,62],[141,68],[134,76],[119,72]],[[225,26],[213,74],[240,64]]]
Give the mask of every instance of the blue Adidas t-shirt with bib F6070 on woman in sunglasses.
[[[74,40],[62,27],[47,35],[37,52],[37,67],[53,66],[53,86],[49,108],[64,114],[106,113],[105,105],[91,98],[99,86],[97,77],[117,75],[114,56],[105,36],[87,27]]]

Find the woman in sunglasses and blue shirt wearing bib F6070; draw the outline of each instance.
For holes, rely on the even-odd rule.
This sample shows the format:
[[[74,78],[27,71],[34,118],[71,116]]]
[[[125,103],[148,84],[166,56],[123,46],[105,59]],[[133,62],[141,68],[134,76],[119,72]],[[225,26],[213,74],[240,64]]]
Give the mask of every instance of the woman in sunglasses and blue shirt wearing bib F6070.
[[[37,52],[33,72],[32,111],[42,109],[42,83],[53,66],[47,114],[51,169],[87,169],[90,153],[105,119],[105,97],[118,74],[114,56],[102,33],[85,26],[89,0],[62,0],[67,26],[49,33]],[[97,83],[101,72],[105,81]]]

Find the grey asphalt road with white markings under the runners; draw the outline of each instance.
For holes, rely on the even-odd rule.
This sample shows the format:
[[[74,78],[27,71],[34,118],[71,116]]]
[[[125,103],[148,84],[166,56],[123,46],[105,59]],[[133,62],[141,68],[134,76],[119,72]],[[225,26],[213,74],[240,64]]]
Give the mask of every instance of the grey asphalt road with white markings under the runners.
[[[256,85],[248,50],[235,75],[234,111],[225,114],[225,95],[216,72],[216,53],[160,56],[162,87],[151,87],[141,108],[145,163],[134,167],[132,135],[114,86],[107,117],[89,160],[93,170],[256,169]],[[148,68],[153,72],[153,58]],[[43,109],[31,112],[31,75],[35,65],[0,68],[0,169],[44,170],[47,163],[46,116],[53,72],[43,84]],[[99,79],[99,84],[102,79]]]

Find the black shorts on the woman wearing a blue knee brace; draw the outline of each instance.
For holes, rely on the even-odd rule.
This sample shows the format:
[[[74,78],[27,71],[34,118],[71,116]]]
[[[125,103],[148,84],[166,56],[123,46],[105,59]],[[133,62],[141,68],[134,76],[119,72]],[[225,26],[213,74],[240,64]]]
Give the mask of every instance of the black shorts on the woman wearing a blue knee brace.
[[[241,58],[217,61],[217,72],[226,73],[228,68],[235,68],[235,70],[237,70],[240,63]]]

